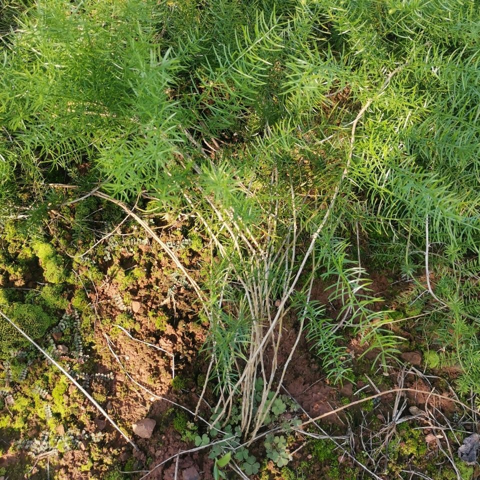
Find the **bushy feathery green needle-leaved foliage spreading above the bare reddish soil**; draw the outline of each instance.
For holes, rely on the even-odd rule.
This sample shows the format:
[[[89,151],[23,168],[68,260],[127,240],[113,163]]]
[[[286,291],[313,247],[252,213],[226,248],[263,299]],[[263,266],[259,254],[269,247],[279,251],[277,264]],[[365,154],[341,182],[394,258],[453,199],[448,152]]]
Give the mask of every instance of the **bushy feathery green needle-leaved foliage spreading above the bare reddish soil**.
[[[347,332],[394,356],[375,263],[426,290],[419,326],[431,343],[453,330],[461,390],[480,391],[479,33],[474,0],[37,0],[2,36],[1,212],[41,219],[68,181],[191,215],[215,248],[205,349],[222,394],[242,391],[293,290],[337,380]],[[433,281],[445,272],[454,288]],[[309,301],[312,275],[337,318]]]

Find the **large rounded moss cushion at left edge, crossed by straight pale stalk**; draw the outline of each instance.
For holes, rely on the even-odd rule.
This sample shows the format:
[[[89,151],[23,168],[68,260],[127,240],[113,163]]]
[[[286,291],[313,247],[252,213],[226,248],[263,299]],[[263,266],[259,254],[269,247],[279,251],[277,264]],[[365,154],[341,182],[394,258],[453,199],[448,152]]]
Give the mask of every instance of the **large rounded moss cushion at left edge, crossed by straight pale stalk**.
[[[42,337],[55,322],[55,318],[38,305],[12,303],[6,312],[9,318],[34,340]],[[0,356],[27,343],[28,340],[23,335],[4,318],[0,318]]]

